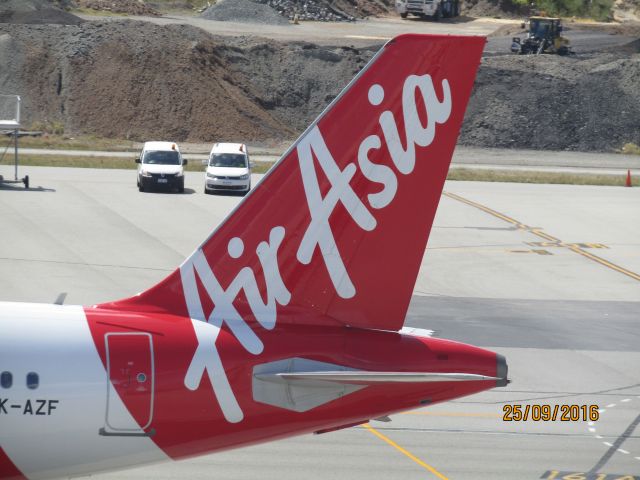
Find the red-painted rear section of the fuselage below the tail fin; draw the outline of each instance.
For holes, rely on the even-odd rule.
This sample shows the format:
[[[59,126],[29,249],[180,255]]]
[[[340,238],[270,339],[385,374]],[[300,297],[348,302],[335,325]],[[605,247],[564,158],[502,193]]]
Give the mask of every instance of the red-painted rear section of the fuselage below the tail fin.
[[[115,361],[111,365],[123,365],[130,359],[135,363],[138,355],[134,352],[133,356],[111,358],[118,351],[107,352],[106,335],[146,332],[152,336],[154,399],[152,421],[145,431],[150,434],[153,431],[149,437],[151,441],[173,459],[331,429],[361,422],[363,418],[378,418],[416,408],[425,401],[435,404],[470,395],[495,385],[495,382],[486,381],[372,385],[308,411],[292,411],[255,399],[253,369],[257,365],[305,358],[355,370],[495,376],[496,356],[439,338],[420,339],[392,332],[292,325],[260,332],[264,350],[260,355],[252,355],[224,326],[215,345],[232,394],[244,414],[242,421],[232,423],[223,415],[208,374],[202,376],[196,390],[185,386],[186,373],[198,348],[189,318],[101,308],[88,308],[85,313],[105,368],[110,360]],[[126,353],[124,349],[120,352]],[[137,370],[131,373],[135,384]],[[149,415],[141,413],[138,393],[132,395],[115,387],[139,426],[145,426]]]

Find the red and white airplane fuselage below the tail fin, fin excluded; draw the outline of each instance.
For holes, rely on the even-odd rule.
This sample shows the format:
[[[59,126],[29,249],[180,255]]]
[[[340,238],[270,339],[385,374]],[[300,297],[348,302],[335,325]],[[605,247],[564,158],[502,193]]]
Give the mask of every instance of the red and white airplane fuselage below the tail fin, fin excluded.
[[[308,325],[261,332],[258,355],[227,329],[215,332],[217,341],[207,345],[223,367],[215,371],[207,351],[198,353],[189,318],[17,303],[1,304],[0,312],[0,445],[5,462],[8,456],[29,478],[83,475],[332,430],[496,385],[292,385],[270,378],[272,371],[504,374],[500,356],[476,347]],[[199,382],[195,388],[190,375]],[[9,471],[2,465],[0,478],[12,478]]]

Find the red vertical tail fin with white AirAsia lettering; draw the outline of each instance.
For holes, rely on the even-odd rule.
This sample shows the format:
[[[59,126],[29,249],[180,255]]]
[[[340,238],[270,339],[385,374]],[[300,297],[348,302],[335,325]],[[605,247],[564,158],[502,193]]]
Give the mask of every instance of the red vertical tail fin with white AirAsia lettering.
[[[179,269],[100,307],[400,329],[484,42],[391,40]]]

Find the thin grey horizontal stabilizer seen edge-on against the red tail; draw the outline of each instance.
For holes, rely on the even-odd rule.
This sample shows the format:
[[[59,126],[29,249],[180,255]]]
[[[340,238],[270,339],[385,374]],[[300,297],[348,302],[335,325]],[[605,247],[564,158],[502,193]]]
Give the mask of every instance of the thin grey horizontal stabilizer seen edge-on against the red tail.
[[[358,384],[373,383],[429,383],[429,382],[471,382],[499,380],[497,377],[473,373],[431,373],[431,372],[367,372],[367,371],[326,371],[326,372],[284,372],[256,374],[264,381],[282,382],[315,380],[324,382],[344,382]]]

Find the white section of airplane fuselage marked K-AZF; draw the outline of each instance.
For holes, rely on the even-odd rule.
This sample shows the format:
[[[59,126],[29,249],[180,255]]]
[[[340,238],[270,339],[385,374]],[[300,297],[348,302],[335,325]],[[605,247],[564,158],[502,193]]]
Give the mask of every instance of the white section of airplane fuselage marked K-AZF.
[[[99,434],[107,374],[82,307],[0,302],[2,372],[11,374],[12,385],[0,387],[0,447],[28,478],[86,475],[168,458],[147,437]],[[39,380],[35,388],[27,387],[30,373]],[[130,418],[117,395],[109,403],[112,415]]]

